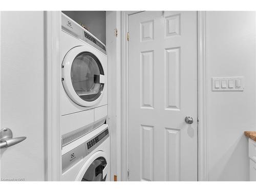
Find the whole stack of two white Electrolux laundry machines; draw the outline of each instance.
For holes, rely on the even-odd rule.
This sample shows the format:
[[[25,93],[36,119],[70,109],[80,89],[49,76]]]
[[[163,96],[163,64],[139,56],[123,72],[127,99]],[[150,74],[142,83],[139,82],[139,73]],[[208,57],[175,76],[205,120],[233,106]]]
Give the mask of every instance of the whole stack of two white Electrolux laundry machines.
[[[61,15],[62,181],[109,181],[105,45]]]

